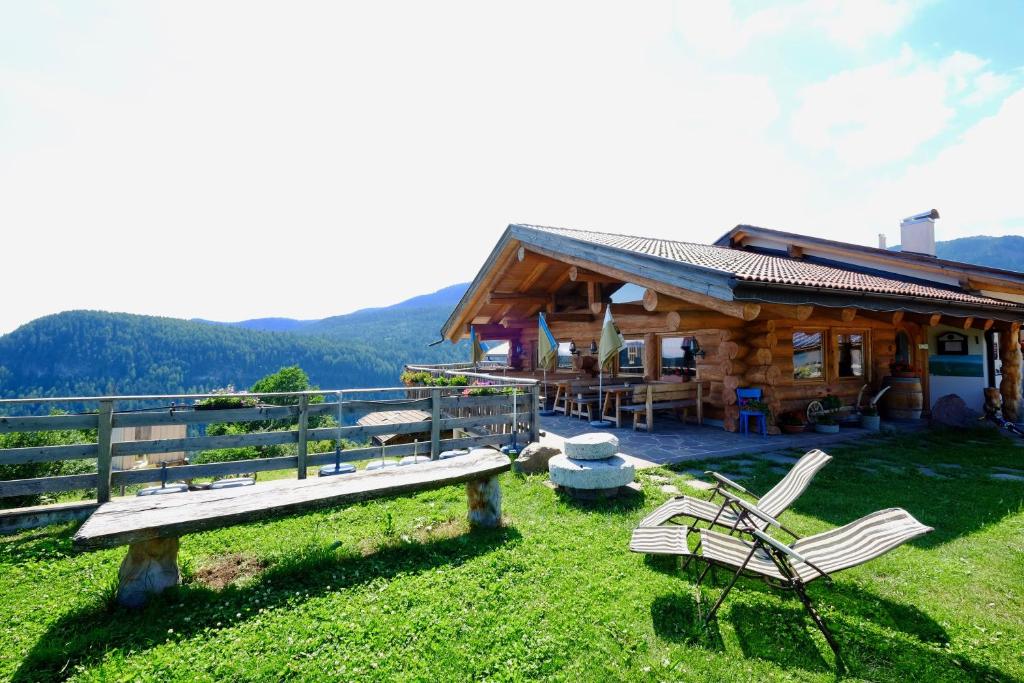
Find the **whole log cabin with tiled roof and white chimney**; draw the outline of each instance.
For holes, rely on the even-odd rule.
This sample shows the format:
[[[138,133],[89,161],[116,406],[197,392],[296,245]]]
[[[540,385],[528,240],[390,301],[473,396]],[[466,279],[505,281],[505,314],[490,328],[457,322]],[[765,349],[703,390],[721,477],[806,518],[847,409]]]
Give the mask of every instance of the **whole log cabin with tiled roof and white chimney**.
[[[948,393],[980,410],[995,387],[1020,420],[1024,273],[937,258],[936,218],[905,219],[903,251],[752,225],[706,245],[511,224],[441,335],[472,326],[531,373],[541,311],[586,354],[611,306],[627,340],[611,372],[702,382],[706,418],[729,431],[739,387],[778,416],[888,384],[891,405],[915,409],[891,417],[914,418]]]

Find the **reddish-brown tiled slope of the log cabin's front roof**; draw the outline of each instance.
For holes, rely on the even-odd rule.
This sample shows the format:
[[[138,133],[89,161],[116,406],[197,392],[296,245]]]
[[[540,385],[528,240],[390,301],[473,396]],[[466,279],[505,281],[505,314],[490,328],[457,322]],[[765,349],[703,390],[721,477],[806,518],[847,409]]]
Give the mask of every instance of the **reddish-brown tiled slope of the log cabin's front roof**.
[[[639,238],[563,227],[528,225],[551,234],[581,240],[591,244],[646,254],[688,265],[710,268],[738,281],[768,285],[793,285],[850,292],[894,294],[928,299],[945,299],[966,304],[1013,306],[999,299],[977,296],[958,288],[924,285],[895,276],[887,278],[854,269],[811,263],[796,258],[761,252],[733,249],[717,245],[700,245],[656,238]]]

